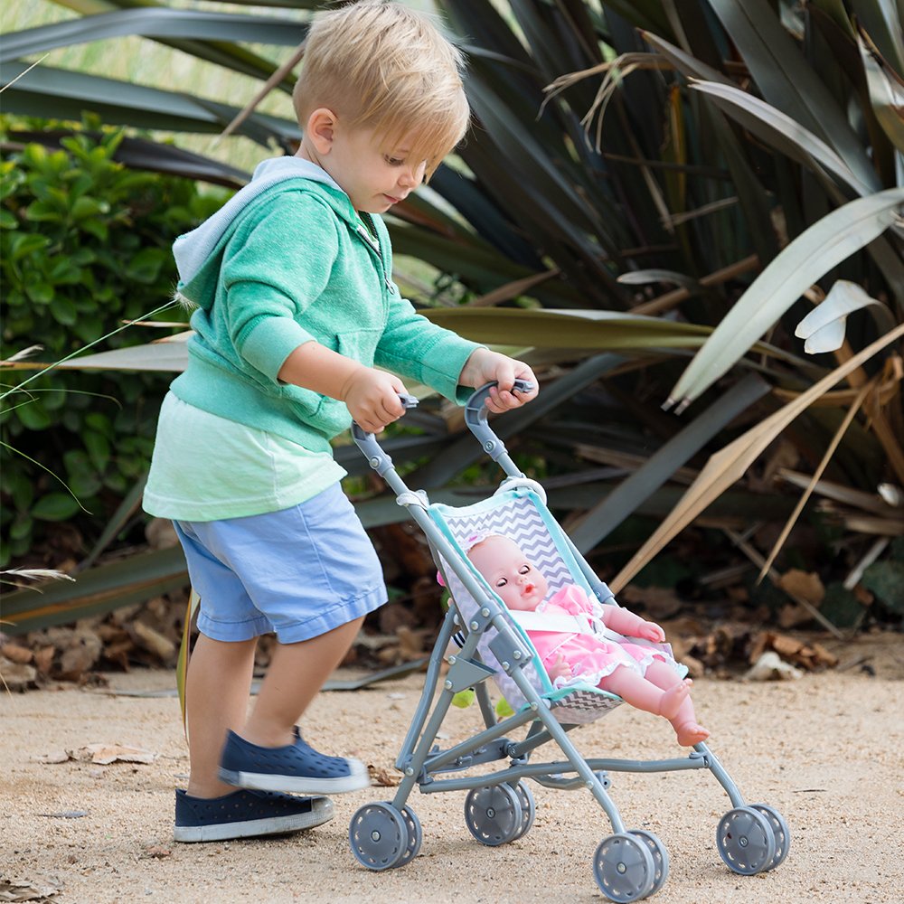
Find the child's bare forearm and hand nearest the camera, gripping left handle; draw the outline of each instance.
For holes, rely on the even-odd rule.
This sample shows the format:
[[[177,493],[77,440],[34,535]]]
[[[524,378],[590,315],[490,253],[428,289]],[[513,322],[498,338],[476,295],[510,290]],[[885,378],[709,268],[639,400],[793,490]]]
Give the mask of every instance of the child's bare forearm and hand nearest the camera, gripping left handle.
[[[316,342],[299,345],[279,369],[279,379],[344,401],[360,428],[379,433],[405,413],[399,393],[405,386],[394,374],[346,358]]]

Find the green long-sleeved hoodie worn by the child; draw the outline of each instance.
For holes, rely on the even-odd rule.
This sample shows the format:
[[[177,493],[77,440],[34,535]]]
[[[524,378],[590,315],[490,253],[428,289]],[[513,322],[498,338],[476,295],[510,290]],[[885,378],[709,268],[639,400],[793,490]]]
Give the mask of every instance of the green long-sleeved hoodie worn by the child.
[[[351,425],[344,403],[277,376],[288,355],[313,340],[464,401],[458,375],[480,346],[431,324],[400,297],[380,217],[364,215],[371,233],[328,177],[313,181],[282,165],[285,178],[235,204],[239,193],[229,212],[195,231],[206,236],[179,240],[182,258],[199,245],[203,256],[189,272],[179,261],[179,292],[198,310],[174,394],[312,452],[328,451],[329,440]]]

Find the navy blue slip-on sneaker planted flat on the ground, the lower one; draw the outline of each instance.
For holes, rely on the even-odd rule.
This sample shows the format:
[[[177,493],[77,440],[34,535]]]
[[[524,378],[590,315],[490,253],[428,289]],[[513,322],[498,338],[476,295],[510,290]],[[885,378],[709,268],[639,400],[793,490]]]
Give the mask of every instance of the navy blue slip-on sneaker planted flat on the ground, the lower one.
[[[175,792],[174,840],[223,842],[311,829],[333,818],[328,797],[293,797],[272,791],[233,791],[222,797]]]

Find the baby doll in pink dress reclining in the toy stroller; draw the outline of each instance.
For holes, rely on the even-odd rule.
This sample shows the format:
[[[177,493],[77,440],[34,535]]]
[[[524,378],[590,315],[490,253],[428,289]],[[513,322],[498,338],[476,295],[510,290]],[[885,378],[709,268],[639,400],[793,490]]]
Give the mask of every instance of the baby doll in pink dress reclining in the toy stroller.
[[[692,747],[710,736],[694,715],[689,692],[692,682],[682,678],[671,656],[659,647],[590,633],[596,623],[598,629],[606,626],[627,637],[662,643],[665,633],[660,626],[620,606],[591,600],[574,584],[547,599],[546,579],[507,537],[493,534],[480,539],[467,556],[510,610],[551,617],[549,628],[540,627],[542,620],[532,619],[525,630],[557,687],[579,678],[582,683],[616,693],[637,709],[669,720],[683,747]],[[561,616],[572,617],[574,630],[567,629],[567,622],[566,630],[562,630]],[[579,629],[576,616],[586,624],[586,633]]]

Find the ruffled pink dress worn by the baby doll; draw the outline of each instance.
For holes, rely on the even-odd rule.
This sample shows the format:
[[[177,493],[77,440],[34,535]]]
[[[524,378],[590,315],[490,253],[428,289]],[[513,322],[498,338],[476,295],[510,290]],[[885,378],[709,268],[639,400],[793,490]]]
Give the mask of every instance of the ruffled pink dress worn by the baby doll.
[[[601,627],[605,624],[603,607],[597,601],[588,598],[584,590],[575,584],[557,590],[549,599],[541,602],[536,611],[551,615],[583,615],[588,617],[590,626]],[[596,687],[619,665],[625,665],[643,675],[649,665],[656,660],[672,665],[681,677],[687,673],[686,668],[675,662],[671,655],[671,647],[667,644],[645,645],[644,641],[639,643],[627,640],[614,641],[604,636],[582,634],[579,631],[572,634],[533,628],[527,630],[527,635],[540,654],[547,672],[559,655],[571,666],[571,677],[557,678],[553,682],[556,688],[569,687],[572,684],[590,684]]]

